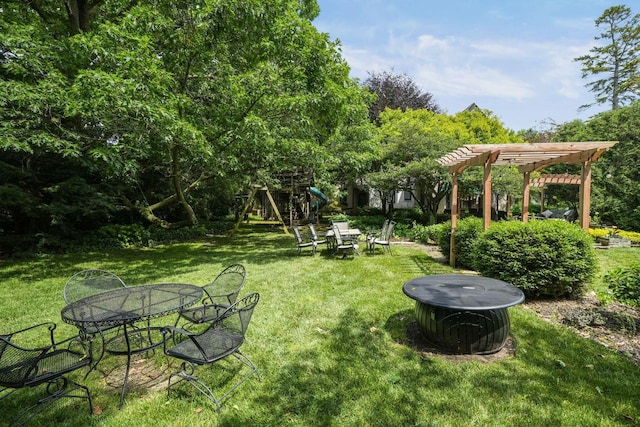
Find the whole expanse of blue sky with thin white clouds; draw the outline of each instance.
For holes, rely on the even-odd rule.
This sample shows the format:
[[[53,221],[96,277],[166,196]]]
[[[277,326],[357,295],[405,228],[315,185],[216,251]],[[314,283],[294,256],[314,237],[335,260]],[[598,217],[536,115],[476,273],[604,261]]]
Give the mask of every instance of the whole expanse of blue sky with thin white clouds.
[[[407,74],[449,114],[472,102],[514,130],[586,120],[580,64],[605,0],[318,0],[321,32],[339,39],[351,76]],[[629,5],[633,13],[633,5]]]

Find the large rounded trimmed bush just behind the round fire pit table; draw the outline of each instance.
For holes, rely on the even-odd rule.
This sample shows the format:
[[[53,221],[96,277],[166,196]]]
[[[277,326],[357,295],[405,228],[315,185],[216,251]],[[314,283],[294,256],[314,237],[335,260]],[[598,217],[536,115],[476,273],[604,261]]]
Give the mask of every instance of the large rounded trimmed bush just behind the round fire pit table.
[[[566,221],[493,223],[474,256],[482,275],[511,283],[528,298],[581,295],[596,271],[593,239]]]

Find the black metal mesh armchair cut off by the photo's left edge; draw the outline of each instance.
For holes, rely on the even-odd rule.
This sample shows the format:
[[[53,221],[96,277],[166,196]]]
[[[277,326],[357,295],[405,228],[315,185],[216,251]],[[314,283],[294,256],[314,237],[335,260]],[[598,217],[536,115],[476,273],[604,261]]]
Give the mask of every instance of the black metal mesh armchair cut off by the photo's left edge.
[[[93,413],[89,389],[65,375],[91,364],[91,353],[77,336],[56,342],[53,322],[0,334],[0,400],[25,387],[46,384],[47,395],[22,411],[11,425],[23,425],[62,397],[86,399]],[[47,335],[47,344],[33,346]],[[6,407],[3,411],[6,411]],[[3,416],[4,418],[4,416]],[[3,421],[9,421],[4,419]]]

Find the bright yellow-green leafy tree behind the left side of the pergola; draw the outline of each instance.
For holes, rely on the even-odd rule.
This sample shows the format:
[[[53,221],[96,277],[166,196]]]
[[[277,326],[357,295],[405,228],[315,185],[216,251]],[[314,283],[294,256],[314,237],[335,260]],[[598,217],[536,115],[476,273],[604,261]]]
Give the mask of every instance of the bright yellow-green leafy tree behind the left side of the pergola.
[[[449,172],[437,159],[464,144],[505,144],[520,141],[489,111],[462,112],[453,116],[427,110],[390,110],[380,115],[381,168],[367,181],[381,192],[411,192],[430,220],[449,194]],[[482,188],[482,173],[465,173],[461,187],[466,194]],[[513,173],[494,172],[494,188],[508,191]],[[479,177],[479,181],[478,181]],[[521,180],[518,182],[521,183]],[[520,184],[521,185],[521,184]]]

